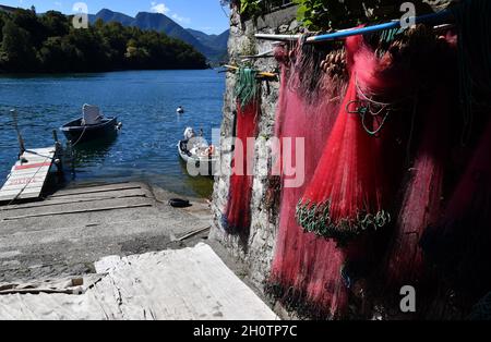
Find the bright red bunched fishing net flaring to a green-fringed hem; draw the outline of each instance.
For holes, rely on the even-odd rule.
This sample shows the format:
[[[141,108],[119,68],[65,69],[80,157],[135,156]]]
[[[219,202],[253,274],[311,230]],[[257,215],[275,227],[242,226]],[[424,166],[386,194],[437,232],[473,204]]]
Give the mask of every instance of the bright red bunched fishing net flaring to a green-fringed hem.
[[[375,73],[379,60],[362,41],[346,42],[350,80],[336,123],[324,147],[315,174],[297,208],[307,232],[346,243],[363,231],[391,222],[387,176],[383,168],[382,141],[390,111],[382,106],[371,112],[361,98],[363,89],[384,89]],[[388,88],[388,87],[387,87]]]

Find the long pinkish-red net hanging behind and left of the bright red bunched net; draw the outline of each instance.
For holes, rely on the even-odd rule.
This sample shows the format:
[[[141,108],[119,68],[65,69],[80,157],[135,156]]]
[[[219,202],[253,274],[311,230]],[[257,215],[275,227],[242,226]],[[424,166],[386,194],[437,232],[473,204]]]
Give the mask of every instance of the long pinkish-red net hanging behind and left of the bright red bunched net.
[[[298,160],[297,157],[300,157],[303,162],[304,182],[299,187],[287,187],[285,184],[292,176],[282,174],[278,235],[266,291],[301,316],[333,318],[342,316],[347,309],[348,289],[342,281],[344,254],[334,243],[304,234],[297,224],[295,210],[322,156],[323,146],[339,108],[343,86],[337,90],[331,88],[332,93],[337,94],[327,94],[322,88],[316,89],[315,91],[320,94],[316,99],[310,98],[309,90],[291,86],[298,85],[298,80],[291,77],[302,74],[302,80],[306,80],[313,71],[312,68],[315,70],[320,68],[310,64],[311,66],[301,69],[297,61],[307,58],[302,58],[302,50],[301,46],[292,49],[282,48],[276,53],[282,63],[276,136],[282,143],[284,138],[304,139],[304,149],[297,150],[294,143],[291,154],[283,155],[279,162],[284,163],[285,159]],[[320,52],[311,51],[311,53]],[[320,72],[322,77],[319,77],[319,84],[328,83],[328,77],[324,72]],[[315,105],[311,105],[312,102]]]

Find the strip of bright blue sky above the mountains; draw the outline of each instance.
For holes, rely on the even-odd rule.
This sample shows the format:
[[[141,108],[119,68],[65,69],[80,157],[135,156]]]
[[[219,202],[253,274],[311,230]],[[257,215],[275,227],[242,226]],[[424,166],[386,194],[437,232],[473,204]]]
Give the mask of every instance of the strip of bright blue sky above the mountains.
[[[109,9],[131,16],[137,12],[158,12],[171,17],[184,28],[194,28],[207,34],[220,34],[228,29],[228,17],[219,0],[0,0],[0,4],[28,9],[36,12],[48,10],[65,14],[74,13],[77,2],[86,3],[88,13]]]

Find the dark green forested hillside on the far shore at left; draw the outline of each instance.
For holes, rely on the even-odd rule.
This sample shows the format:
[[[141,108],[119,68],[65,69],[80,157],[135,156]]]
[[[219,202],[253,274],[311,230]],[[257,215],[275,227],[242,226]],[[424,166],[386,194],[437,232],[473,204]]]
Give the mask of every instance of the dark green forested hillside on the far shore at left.
[[[204,69],[205,57],[165,34],[97,21],[76,29],[50,11],[0,12],[1,72]]]

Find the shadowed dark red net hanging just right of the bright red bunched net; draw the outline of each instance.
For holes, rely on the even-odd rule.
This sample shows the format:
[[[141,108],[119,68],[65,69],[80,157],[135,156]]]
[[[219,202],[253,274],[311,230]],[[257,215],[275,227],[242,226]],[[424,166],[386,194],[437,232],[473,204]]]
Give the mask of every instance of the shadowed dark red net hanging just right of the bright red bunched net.
[[[400,302],[399,291],[411,285],[420,298],[418,315],[429,309],[430,298],[439,284],[423,257],[419,241],[429,224],[438,221],[442,213],[445,188],[451,182],[451,156],[455,142],[454,131],[458,106],[454,100],[457,91],[454,36],[441,35],[430,27],[419,26],[407,32],[392,44],[390,50],[396,60],[406,60],[414,72],[410,87],[415,100],[405,131],[409,133],[403,168],[404,178],[393,196],[395,213],[393,231],[383,246],[382,267],[376,271],[375,283],[380,284],[380,297],[385,307]],[[439,56],[429,61],[428,56]],[[421,317],[421,316],[420,316]]]

